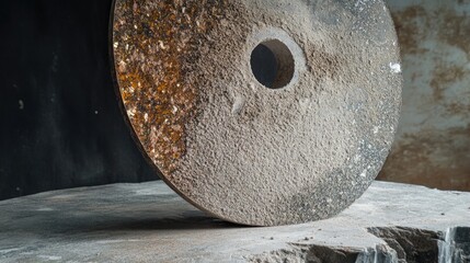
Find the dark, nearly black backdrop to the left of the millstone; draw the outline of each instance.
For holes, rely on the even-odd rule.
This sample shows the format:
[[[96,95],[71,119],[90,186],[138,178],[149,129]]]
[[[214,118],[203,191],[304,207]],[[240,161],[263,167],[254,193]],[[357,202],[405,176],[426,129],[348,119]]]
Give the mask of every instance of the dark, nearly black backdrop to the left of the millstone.
[[[121,114],[108,56],[112,0],[0,8],[0,199],[158,179]]]

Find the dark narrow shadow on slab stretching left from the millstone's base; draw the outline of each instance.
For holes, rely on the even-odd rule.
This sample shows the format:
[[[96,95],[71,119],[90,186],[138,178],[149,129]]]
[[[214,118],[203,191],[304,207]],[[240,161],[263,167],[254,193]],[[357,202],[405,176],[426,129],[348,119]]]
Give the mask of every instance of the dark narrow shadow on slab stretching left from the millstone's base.
[[[198,210],[134,210],[129,216],[123,213],[71,211],[15,211],[2,231],[23,232],[41,239],[61,236],[87,236],[105,233],[113,236],[135,231],[173,231],[245,228],[247,226],[227,222],[209,217]],[[14,222],[14,224],[13,224]]]

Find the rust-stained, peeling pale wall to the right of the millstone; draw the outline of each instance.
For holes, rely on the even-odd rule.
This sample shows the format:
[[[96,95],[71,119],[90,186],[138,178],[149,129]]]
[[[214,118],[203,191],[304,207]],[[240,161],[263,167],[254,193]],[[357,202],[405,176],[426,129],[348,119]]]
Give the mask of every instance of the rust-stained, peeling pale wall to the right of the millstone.
[[[380,180],[470,191],[470,0],[388,0],[403,107]]]

